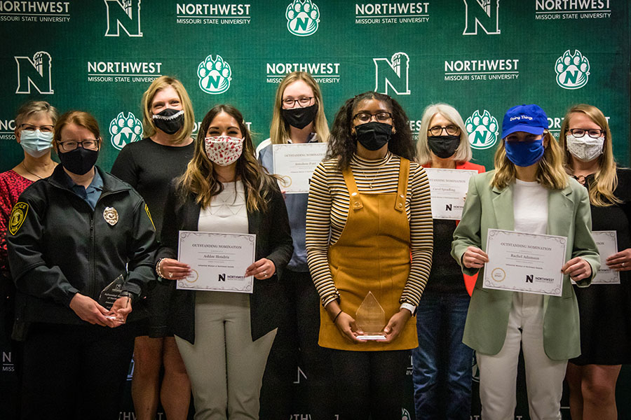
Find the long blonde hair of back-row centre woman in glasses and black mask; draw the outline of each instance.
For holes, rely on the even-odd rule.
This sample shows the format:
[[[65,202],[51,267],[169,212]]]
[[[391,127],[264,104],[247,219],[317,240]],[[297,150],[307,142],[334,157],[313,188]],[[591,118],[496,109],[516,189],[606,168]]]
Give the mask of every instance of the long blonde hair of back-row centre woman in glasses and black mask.
[[[278,85],[278,89],[276,89],[274,113],[269,130],[269,139],[272,144],[287,144],[287,139],[290,139],[290,126],[285,123],[283,117],[280,116],[280,110],[283,109],[283,93],[285,92],[285,88],[297,80],[304,81],[304,83],[313,90],[315,104],[318,105],[318,111],[316,111],[315,119],[313,120],[313,129],[315,130],[315,134],[318,134],[318,141],[325,142],[329,138],[329,125],[327,124],[324,103],[322,102],[322,92],[320,92],[318,82],[306,71],[292,71],[291,73],[287,73],[287,76],[283,78],[283,81]]]

